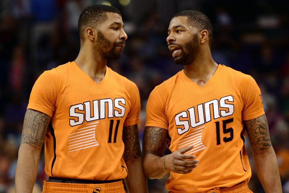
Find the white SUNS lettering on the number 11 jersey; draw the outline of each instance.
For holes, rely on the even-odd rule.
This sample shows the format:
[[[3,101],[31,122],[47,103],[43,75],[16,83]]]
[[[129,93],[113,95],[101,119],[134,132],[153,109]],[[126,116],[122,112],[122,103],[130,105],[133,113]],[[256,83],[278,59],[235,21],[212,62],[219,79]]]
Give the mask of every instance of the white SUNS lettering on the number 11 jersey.
[[[70,126],[80,125],[84,122],[98,119],[123,117],[126,111],[124,98],[99,99],[75,104],[69,108]]]

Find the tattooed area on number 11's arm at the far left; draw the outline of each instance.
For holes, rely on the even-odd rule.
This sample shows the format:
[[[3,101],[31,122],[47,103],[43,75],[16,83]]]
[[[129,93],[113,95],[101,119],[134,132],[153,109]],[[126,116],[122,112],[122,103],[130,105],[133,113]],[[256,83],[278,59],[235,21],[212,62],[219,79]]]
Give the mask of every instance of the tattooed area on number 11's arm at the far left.
[[[24,117],[21,144],[30,144],[41,149],[50,117],[42,112],[27,109]]]

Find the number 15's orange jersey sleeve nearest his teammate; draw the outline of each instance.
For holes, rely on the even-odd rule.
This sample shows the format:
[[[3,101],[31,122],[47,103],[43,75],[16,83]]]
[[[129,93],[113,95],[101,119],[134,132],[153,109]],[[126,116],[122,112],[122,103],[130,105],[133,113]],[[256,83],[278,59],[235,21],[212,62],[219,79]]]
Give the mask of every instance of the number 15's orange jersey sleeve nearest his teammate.
[[[169,122],[165,114],[164,104],[160,98],[157,88],[151,92],[146,108],[146,127],[169,128]]]

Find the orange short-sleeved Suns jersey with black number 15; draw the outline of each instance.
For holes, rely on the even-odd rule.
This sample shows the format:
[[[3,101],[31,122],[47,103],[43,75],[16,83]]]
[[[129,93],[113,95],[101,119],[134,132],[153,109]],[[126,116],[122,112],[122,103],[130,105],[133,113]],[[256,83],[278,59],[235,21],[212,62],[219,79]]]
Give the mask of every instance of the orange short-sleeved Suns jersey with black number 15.
[[[251,76],[224,65],[203,87],[184,70],[155,87],[145,126],[168,129],[172,152],[193,144],[186,154],[200,160],[189,174],[171,172],[166,188],[194,193],[248,182],[251,169],[242,120],[264,114],[261,96]]]

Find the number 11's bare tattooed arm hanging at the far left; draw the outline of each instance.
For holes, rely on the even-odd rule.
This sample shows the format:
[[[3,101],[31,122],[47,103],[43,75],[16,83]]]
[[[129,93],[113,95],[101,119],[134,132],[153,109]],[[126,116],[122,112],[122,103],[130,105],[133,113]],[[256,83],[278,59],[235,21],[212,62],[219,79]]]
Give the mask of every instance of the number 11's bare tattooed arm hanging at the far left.
[[[15,175],[16,192],[32,192],[37,177],[38,162],[50,117],[27,109]]]

